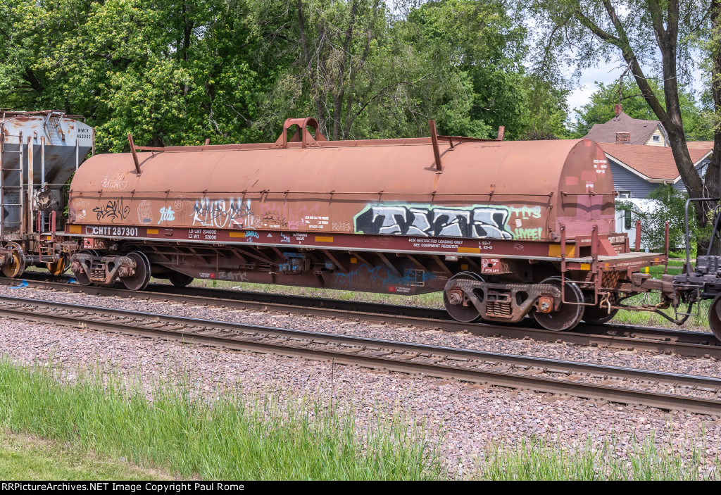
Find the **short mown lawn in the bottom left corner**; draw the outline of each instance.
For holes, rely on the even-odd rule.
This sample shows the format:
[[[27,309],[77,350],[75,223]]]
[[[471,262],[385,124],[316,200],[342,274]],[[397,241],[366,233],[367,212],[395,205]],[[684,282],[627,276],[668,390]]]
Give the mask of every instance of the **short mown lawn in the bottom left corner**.
[[[4,481],[99,481],[169,479],[122,458],[104,458],[26,434],[0,431],[0,478]]]

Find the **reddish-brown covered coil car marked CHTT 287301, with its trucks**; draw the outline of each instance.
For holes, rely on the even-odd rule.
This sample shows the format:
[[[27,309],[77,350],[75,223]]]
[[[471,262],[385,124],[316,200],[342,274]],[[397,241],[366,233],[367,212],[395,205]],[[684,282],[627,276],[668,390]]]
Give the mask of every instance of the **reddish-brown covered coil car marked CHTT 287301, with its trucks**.
[[[682,324],[714,299],[709,321],[721,336],[720,259],[699,257],[682,275],[645,273],[667,264],[668,241],[666,252],[634,251],[615,231],[598,144],[429,126],[430,138],[327,141],[315,119],[288,119],[274,143],[164,148],[128,135],[129,153],[79,167],[63,228],[43,224],[36,245],[54,257],[51,271],[70,267],[84,285],[143,290],[154,276],[178,286],[441,291],[456,320],[531,316],[553,331],[602,324],[620,308]],[[28,254],[9,243],[0,256],[5,275],[19,276],[5,268]]]

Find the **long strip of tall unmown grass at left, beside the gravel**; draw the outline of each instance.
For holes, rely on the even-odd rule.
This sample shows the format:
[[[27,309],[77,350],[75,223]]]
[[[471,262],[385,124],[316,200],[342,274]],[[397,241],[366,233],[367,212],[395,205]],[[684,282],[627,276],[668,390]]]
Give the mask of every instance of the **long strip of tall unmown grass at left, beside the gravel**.
[[[71,383],[60,380],[72,375]],[[347,410],[352,410],[347,408]],[[428,479],[441,463],[399,416],[359,433],[350,413],[313,399],[212,401],[190,385],[140,385],[0,361],[0,424],[174,476],[203,479]]]

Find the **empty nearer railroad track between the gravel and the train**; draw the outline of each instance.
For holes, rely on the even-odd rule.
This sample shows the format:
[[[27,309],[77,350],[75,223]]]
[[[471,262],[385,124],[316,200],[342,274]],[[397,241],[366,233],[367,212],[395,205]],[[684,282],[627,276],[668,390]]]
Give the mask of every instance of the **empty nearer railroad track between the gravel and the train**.
[[[146,336],[338,365],[721,414],[721,378],[393,342],[183,316],[0,297],[5,318]],[[683,391],[684,394],[665,393]]]

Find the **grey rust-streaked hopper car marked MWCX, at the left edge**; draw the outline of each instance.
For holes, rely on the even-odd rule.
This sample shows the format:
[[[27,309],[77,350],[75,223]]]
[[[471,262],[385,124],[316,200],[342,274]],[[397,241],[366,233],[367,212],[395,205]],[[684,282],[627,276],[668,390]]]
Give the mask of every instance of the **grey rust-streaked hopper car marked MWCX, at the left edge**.
[[[94,129],[81,120],[60,110],[0,109],[0,267],[6,277],[31,265],[55,275],[69,266],[39,233],[64,230],[68,179],[94,151]]]

